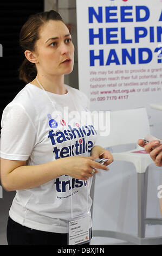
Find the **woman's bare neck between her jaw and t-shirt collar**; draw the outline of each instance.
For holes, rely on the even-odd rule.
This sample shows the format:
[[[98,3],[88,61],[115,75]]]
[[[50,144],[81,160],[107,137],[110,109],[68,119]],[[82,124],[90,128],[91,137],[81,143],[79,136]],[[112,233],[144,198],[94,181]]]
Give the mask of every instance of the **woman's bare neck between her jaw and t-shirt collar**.
[[[43,86],[44,90],[50,93],[55,94],[66,94],[67,89],[64,86],[64,75],[62,76],[53,76],[53,77],[47,77],[47,76],[40,76],[37,74],[37,80],[38,82]],[[31,82],[35,86],[41,88],[40,84],[37,82],[36,78]],[[42,89],[42,88],[41,88]]]

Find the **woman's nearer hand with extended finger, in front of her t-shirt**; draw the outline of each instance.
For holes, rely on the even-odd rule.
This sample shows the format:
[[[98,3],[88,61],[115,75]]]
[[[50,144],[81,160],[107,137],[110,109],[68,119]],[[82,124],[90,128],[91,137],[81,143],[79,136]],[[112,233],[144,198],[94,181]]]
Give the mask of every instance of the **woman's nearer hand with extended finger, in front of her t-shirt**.
[[[70,175],[75,179],[87,180],[93,176],[92,170],[95,168],[108,170],[106,166],[93,161],[96,157],[94,156],[69,156],[60,159],[63,166],[64,174]],[[95,170],[95,173],[98,171]]]

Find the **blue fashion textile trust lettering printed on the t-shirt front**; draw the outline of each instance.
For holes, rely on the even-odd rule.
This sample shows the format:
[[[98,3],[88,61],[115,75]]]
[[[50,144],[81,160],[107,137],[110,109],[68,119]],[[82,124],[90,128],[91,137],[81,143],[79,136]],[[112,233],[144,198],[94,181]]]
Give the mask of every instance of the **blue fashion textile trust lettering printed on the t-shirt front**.
[[[86,152],[90,153],[94,143],[92,137],[97,135],[92,124],[81,126],[77,120],[73,120],[71,125],[67,125],[64,119],[57,120],[57,122],[55,119],[51,119],[49,122],[52,130],[48,132],[48,138],[53,145],[55,160],[68,156],[83,155]],[[60,125],[56,126],[56,123],[61,124],[62,127]],[[66,176],[68,175],[62,175],[62,178],[55,179],[54,186],[56,191],[60,194],[64,193],[64,196],[57,196],[57,199],[67,199],[88,185],[87,180],[67,179]],[[72,192],[72,194],[67,194],[68,191]]]

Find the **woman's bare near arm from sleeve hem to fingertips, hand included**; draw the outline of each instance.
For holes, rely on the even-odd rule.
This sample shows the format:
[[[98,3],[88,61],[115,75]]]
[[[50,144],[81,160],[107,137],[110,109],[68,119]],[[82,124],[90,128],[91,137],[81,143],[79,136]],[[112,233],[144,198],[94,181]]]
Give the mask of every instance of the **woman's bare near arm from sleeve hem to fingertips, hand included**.
[[[92,176],[92,169],[107,170],[106,166],[93,161],[93,156],[69,156],[35,166],[25,166],[26,161],[1,158],[1,182],[5,190],[24,190],[40,186],[61,175],[86,180]]]

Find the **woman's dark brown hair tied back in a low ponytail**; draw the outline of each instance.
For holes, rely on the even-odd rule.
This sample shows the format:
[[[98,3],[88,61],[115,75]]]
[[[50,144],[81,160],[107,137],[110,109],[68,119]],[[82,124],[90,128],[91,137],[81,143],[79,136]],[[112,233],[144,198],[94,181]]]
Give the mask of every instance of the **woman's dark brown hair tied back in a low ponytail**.
[[[39,39],[40,28],[49,20],[63,22],[60,14],[54,10],[44,11],[43,13],[29,16],[29,19],[25,22],[20,32],[19,42],[23,51],[35,51],[35,44]],[[35,63],[29,62],[27,58],[24,59],[18,71],[20,80],[23,80],[26,83],[33,81],[37,75]]]

